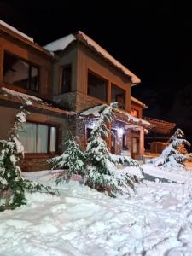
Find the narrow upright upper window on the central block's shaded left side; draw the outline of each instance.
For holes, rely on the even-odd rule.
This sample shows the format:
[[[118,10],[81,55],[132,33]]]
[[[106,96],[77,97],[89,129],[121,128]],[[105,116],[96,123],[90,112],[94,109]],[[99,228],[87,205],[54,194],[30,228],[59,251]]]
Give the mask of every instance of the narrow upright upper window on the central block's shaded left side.
[[[72,91],[72,65],[61,68],[61,93]]]

